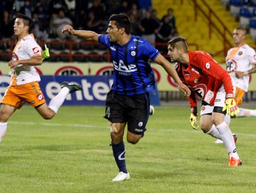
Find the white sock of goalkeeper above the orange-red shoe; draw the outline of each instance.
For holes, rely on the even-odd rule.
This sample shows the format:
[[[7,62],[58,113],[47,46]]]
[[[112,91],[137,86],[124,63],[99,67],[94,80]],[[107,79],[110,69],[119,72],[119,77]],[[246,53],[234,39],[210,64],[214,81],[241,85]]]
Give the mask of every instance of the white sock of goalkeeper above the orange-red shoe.
[[[237,154],[237,148],[235,146],[235,141],[232,136],[232,132],[230,128],[228,128],[227,123],[222,122],[221,124],[216,126],[217,130],[221,134],[221,139],[226,146],[226,150],[230,153],[230,157],[234,157],[235,159],[239,159]]]

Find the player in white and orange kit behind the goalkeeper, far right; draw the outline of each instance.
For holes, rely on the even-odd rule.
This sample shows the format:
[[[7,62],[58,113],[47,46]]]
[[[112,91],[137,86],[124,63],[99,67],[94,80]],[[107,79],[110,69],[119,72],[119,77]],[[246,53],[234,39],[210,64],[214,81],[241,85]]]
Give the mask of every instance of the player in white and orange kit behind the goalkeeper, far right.
[[[237,105],[243,103],[243,96],[248,92],[250,75],[256,72],[255,50],[250,48],[244,41],[246,39],[246,30],[244,28],[235,28],[233,31],[233,41],[235,47],[228,50],[226,56],[226,70],[232,77],[232,83],[235,87],[235,100]],[[254,68],[253,68],[254,67]],[[239,112],[235,117],[256,116],[256,110],[239,108]],[[226,115],[226,123],[230,124],[230,116]],[[234,135],[236,140],[236,136]],[[223,143],[217,139],[215,143]]]

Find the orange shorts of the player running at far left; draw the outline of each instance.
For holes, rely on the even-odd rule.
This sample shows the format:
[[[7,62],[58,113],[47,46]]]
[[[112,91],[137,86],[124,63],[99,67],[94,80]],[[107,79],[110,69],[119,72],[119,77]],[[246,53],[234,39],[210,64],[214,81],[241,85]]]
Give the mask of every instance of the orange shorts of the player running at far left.
[[[3,96],[1,103],[21,108],[24,103],[37,107],[46,103],[38,82],[24,85],[10,85]]]

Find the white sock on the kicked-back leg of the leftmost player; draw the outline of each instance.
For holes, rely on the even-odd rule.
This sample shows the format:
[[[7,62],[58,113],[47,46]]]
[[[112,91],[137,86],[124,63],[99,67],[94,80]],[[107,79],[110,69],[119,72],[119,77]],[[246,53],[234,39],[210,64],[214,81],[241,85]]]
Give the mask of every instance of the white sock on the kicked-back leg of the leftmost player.
[[[60,106],[63,104],[63,102],[66,99],[66,95],[69,94],[69,89],[64,87],[60,92],[53,98],[51,99],[48,107],[51,108],[55,113],[59,110]]]

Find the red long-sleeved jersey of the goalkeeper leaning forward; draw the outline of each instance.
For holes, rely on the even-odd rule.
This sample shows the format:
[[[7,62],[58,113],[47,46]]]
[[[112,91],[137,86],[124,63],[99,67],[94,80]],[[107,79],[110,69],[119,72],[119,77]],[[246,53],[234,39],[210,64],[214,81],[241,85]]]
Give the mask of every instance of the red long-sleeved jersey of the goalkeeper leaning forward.
[[[213,105],[217,91],[224,86],[226,94],[232,96],[231,78],[221,66],[212,59],[210,54],[201,51],[188,51],[190,64],[187,66],[176,63],[176,71],[181,81],[192,90],[188,97],[190,106],[196,106],[196,94],[203,101]]]

